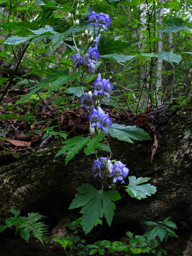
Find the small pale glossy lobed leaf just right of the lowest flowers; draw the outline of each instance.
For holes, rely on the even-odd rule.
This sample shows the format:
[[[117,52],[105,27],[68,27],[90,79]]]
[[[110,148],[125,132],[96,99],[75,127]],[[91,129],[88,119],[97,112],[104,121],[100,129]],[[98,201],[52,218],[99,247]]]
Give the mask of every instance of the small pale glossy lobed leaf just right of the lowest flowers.
[[[145,183],[150,178],[138,178],[135,176],[129,177],[129,185],[126,186],[126,191],[131,197],[135,197],[137,199],[146,198],[147,196],[151,196],[156,193],[156,187],[151,186],[150,183]],[[142,185],[141,185],[142,184]]]

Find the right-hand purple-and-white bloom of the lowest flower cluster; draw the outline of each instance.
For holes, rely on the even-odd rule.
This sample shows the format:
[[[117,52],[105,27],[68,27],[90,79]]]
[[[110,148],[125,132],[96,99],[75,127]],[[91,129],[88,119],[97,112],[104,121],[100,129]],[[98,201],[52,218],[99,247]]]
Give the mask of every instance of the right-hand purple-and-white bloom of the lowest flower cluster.
[[[125,167],[120,161],[116,161],[113,167],[113,175],[115,176],[113,179],[113,183],[117,182],[117,180],[121,181],[121,184],[124,184],[123,178],[126,178],[129,174],[129,169]]]

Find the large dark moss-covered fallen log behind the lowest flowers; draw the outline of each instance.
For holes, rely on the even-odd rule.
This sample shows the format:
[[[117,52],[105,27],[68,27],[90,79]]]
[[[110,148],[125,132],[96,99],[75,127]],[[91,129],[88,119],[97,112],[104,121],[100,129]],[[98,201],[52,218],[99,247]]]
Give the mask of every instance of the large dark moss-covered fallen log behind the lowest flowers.
[[[113,158],[126,163],[131,175],[151,177],[157,193],[138,201],[123,191],[123,199],[117,203],[110,230],[122,227],[122,231],[130,228],[133,231],[131,223],[161,220],[171,215],[179,227],[179,235],[188,234],[192,222],[191,110],[191,103],[188,102],[155,119],[159,146],[153,163],[150,161],[153,141],[135,142],[132,145],[111,139]],[[34,154],[13,155],[11,164],[7,164],[6,159],[6,165],[0,167],[1,222],[11,206],[23,212],[41,211],[47,217],[59,219],[68,212],[78,186],[85,182],[99,186],[90,171],[94,156],[85,158],[84,153],[80,153],[65,165],[64,156],[54,159],[59,146]]]

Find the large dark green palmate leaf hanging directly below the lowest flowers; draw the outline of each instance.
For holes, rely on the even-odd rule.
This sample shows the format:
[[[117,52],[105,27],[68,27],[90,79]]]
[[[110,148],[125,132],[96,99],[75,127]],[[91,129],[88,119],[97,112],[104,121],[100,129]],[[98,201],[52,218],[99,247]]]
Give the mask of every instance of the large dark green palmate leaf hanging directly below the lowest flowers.
[[[81,225],[85,234],[89,233],[94,226],[102,224],[101,218],[105,216],[108,225],[111,225],[113,219],[115,203],[121,199],[118,191],[103,191],[95,189],[87,183],[77,188],[78,193],[75,195],[69,209],[82,206]]]

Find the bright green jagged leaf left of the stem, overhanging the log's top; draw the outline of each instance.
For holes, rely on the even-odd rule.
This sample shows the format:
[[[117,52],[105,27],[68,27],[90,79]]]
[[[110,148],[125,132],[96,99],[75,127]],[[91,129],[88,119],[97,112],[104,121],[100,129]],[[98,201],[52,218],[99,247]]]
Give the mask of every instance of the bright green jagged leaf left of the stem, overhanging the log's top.
[[[65,163],[67,164],[69,160],[78,153],[79,150],[81,150],[85,145],[87,145],[89,140],[89,137],[84,138],[82,136],[70,138],[63,142],[66,145],[61,147],[61,149],[58,151],[55,157],[58,157],[59,155],[67,152],[65,158]]]

